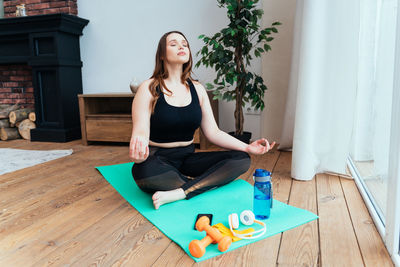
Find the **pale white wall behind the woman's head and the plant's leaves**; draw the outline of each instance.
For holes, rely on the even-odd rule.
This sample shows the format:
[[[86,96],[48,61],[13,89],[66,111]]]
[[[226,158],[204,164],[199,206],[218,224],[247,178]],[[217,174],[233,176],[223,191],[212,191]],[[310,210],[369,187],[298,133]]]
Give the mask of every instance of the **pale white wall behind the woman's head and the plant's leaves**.
[[[281,0],[274,1],[275,5],[281,5]],[[269,2],[272,1],[267,1],[267,5]],[[218,8],[215,0],[119,0],[112,4],[108,0],[79,0],[78,12],[80,17],[90,20],[81,38],[84,93],[129,92],[132,77],[139,81],[148,79],[154,68],[159,38],[170,30],[179,30],[186,35],[194,62],[197,62],[195,54],[202,47],[197,37],[211,35],[228,23],[226,11]],[[268,12],[266,15],[270,16]],[[282,21],[279,16],[275,15],[275,18]],[[275,42],[274,51],[278,50],[277,46],[278,42]],[[254,60],[252,68],[261,74],[261,59]],[[203,84],[215,78],[215,72],[204,67],[194,69],[194,73]],[[273,83],[269,86],[270,91],[278,90]],[[271,108],[267,105],[267,111]],[[222,130],[234,130],[233,111],[234,102],[220,102]],[[245,115],[244,127],[253,133],[252,139],[260,137],[260,117]]]

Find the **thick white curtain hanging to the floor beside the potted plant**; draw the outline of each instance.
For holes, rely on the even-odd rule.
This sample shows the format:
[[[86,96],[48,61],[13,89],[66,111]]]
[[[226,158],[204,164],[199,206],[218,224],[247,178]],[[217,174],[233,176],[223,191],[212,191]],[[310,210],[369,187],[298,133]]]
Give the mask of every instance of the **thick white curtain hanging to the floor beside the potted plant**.
[[[358,81],[359,1],[298,0],[280,149],[292,177],[345,173]]]

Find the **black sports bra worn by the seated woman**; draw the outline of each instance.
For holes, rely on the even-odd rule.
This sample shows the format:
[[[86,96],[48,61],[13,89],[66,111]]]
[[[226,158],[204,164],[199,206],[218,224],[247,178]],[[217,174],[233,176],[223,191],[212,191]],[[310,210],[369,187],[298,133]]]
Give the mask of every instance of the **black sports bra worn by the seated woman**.
[[[201,123],[201,107],[192,81],[188,79],[187,82],[192,101],[183,107],[168,104],[160,88],[157,88],[160,97],[150,117],[151,141],[169,143],[193,140],[194,132]]]

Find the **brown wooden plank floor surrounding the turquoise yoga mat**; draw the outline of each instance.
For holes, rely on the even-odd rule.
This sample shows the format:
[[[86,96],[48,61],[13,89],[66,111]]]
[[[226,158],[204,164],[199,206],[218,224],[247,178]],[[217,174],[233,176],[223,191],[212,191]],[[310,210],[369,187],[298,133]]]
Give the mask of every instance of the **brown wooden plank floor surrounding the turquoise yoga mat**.
[[[241,178],[250,181],[256,167],[272,170],[275,198],[319,219],[195,264],[95,170],[128,162],[126,145],[16,140],[0,147],[74,150],[0,176],[0,266],[392,266],[354,181],[293,180],[290,152],[253,157]]]

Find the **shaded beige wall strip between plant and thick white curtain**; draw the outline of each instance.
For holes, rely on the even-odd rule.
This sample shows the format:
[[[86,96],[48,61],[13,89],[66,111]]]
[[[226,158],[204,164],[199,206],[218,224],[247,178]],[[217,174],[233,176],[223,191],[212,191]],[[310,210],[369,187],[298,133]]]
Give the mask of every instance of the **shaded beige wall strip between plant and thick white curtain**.
[[[263,0],[263,9],[264,26],[270,26],[274,21],[282,23],[270,43],[272,50],[262,61],[262,77],[268,90],[264,95],[261,134],[268,140],[279,142],[289,88],[296,0]]]

